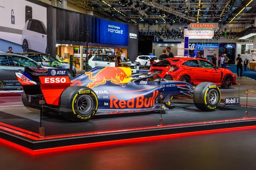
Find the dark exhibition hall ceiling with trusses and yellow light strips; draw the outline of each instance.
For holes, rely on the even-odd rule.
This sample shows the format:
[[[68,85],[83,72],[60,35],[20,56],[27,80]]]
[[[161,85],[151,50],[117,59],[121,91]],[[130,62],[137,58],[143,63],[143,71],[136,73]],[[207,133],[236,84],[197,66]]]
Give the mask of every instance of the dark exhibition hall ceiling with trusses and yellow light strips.
[[[178,30],[189,23],[220,23],[220,31],[239,32],[252,25],[256,0],[67,0],[117,21],[139,24],[139,30]],[[150,26],[150,27],[148,27]]]

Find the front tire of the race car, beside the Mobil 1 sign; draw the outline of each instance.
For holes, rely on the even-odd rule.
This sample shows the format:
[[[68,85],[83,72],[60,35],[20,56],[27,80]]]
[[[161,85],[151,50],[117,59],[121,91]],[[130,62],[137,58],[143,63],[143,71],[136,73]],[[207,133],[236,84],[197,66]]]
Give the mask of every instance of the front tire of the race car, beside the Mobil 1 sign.
[[[221,91],[211,82],[202,82],[195,87],[193,102],[201,111],[214,111],[221,102]]]

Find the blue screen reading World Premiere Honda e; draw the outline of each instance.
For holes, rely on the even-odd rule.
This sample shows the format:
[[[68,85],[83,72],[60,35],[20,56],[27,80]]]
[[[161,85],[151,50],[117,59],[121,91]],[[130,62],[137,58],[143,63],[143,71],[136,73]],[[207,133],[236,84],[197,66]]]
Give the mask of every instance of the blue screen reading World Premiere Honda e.
[[[127,24],[116,23],[113,21],[99,21],[99,42],[102,44],[128,45]]]

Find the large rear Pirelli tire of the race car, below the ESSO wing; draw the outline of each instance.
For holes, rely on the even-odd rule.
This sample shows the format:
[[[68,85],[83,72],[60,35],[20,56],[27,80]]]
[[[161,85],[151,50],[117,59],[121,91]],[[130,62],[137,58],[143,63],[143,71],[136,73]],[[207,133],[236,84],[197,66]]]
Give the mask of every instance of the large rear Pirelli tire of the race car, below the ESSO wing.
[[[97,112],[98,97],[90,88],[70,86],[62,92],[59,107],[61,114],[66,119],[86,122],[92,119]]]

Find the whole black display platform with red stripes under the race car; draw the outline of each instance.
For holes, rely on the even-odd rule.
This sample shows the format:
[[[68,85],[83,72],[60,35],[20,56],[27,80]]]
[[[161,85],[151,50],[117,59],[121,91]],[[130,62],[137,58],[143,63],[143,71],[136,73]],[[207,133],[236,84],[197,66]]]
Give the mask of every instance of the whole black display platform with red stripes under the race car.
[[[60,115],[48,113],[43,116],[45,137],[39,138],[39,117],[31,117],[24,106],[0,111],[0,138],[30,150],[76,146],[116,140],[145,138],[152,136],[218,130],[256,125],[256,108],[249,107],[249,116],[244,119],[245,106],[224,107],[216,111],[202,112],[191,100],[173,100],[174,109],[162,115],[159,112],[96,115],[89,122],[76,123]],[[19,112],[19,113],[16,113]],[[39,114],[35,114],[39,116]]]

